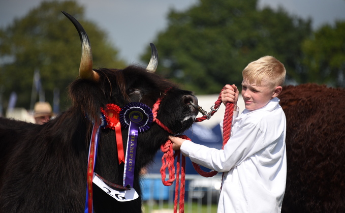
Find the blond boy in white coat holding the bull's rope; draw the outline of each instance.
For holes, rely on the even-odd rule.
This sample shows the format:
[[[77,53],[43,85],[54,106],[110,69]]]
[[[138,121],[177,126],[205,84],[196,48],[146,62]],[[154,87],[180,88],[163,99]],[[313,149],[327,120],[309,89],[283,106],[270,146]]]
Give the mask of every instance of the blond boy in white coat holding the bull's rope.
[[[238,89],[226,85],[222,102],[234,103],[231,137],[218,150],[171,136],[173,149],[204,167],[224,172],[217,212],[280,212],[286,185],[286,117],[277,96],[286,70],[272,56],[243,70],[245,109],[238,115]],[[222,124],[221,124],[222,125]]]

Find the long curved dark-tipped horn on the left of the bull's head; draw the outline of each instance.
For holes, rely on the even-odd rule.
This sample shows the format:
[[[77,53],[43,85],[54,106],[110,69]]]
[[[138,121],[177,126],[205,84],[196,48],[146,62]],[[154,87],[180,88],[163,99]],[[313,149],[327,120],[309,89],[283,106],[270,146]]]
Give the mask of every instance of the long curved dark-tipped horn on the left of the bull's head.
[[[98,81],[100,76],[97,72],[92,70],[91,44],[90,44],[90,41],[88,40],[88,36],[85,32],[85,29],[73,16],[66,13],[65,11],[61,11],[61,12],[64,13],[64,15],[72,21],[80,37],[80,43],[81,43],[81,60],[80,60],[80,67],[79,67],[80,78]]]

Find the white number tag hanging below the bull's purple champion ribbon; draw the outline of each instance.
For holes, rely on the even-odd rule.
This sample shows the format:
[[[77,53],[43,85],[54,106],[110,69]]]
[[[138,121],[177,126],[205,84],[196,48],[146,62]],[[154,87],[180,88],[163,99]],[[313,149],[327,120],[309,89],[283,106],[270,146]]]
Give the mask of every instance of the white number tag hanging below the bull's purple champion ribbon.
[[[138,193],[133,188],[124,191],[114,190],[96,175],[93,175],[92,182],[105,191],[109,196],[120,202],[132,201],[139,197]]]

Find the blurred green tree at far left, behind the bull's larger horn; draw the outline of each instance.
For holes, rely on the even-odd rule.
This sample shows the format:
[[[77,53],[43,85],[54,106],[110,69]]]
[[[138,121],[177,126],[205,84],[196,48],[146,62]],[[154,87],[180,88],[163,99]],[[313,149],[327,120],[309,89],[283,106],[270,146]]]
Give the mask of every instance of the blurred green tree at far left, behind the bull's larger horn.
[[[75,1],[42,2],[21,19],[0,29],[0,86],[3,100],[18,95],[18,107],[29,108],[35,70],[41,74],[46,101],[52,104],[53,90],[60,90],[60,105],[68,107],[66,88],[78,77],[81,47],[78,33],[61,13],[73,15],[85,28],[93,53],[93,66],[121,68],[118,51],[106,33],[84,17],[84,8]]]

